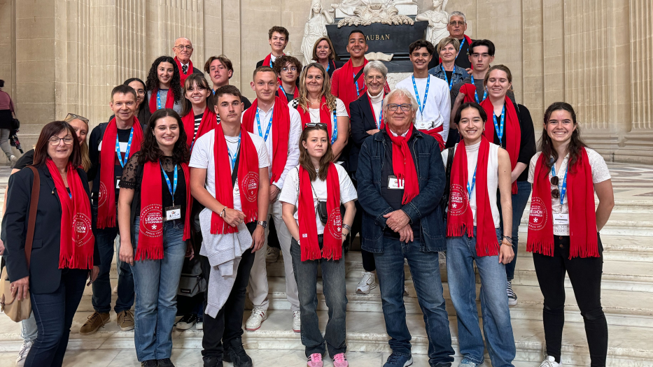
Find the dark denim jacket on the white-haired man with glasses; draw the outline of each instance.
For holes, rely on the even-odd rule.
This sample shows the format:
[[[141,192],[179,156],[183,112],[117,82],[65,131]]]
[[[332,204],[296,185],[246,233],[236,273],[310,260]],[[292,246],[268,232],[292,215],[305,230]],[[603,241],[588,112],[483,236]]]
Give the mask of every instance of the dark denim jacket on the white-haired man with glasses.
[[[386,218],[393,208],[381,196],[381,168],[386,157],[386,149],[392,149],[392,143],[386,139],[386,130],[365,139],[358,156],[358,202],[363,207],[363,250],[384,252],[383,231]],[[444,239],[444,218],[438,203],[444,192],[444,165],[440,146],[433,136],[414,129],[408,141],[417,177],[419,195],[402,207],[411,222],[420,223],[420,251],[436,252],[447,249]]]

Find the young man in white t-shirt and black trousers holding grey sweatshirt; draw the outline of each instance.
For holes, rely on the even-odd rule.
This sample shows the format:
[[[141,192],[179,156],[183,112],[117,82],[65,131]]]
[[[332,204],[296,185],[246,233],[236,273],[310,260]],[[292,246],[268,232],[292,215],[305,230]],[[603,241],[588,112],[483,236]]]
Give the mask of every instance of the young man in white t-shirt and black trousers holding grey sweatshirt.
[[[233,191],[230,189],[233,193],[233,208],[220,203],[216,199],[218,196],[216,182],[220,181],[216,176],[216,159],[222,161],[225,157],[216,157],[213,150],[216,131],[213,130],[197,139],[190,157],[190,185],[192,196],[206,207],[199,214],[203,236],[202,250],[199,253],[202,255],[200,258],[202,273],[209,282],[204,302],[202,356],[205,367],[222,366],[223,360],[233,362],[234,366],[251,367],[252,360],[246,354],[241,339],[242,318],[245,308],[245,289],[254,261],[253,252],[262,247],[267,226],[267,222],[261,220],[267,218],[269,206],[267,170],[269,159],[265,141],[255,134],[241,131],[243,103],[238,88],[231,85],[220,87],[216,91],[216,97],[216,112],[220,115],[221,121],[218,128],[224,132],[220,138],[223,137],[226,141],[231,172],[238,171],[239,166],[249,160],[240,159],[243,157],[243,154],[240,154],[241,147],[246,149],[246,145],[241,144],[241,134],[248,134],[258,155],[258,182],[253,180],[251,173],[246,175],[246,178],[236,178]],[[220,175],[225,173],[220,172]],[[242,192],[239,185],[239,180],[243,179],[247,182],[246,192]],[[258,187],[256,196],[258,220],[247,223],[241,197],[245,198],[243,200],[251,197],[252,187]],[[213,217],[213,213],[219,215],[219,220]],[[211,222],[214,221],[218,222],[218,233],[223,233],[220,229],[227,228],[227,225],[237,227],[237,232],[211,233]],[[228,229],[222,231],[228,232]]]

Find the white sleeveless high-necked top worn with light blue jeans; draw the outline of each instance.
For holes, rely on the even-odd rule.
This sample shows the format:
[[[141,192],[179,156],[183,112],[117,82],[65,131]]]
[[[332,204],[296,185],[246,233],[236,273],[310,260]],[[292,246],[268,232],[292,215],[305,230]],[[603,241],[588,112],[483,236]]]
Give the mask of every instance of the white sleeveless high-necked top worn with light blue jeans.
[[[476,168],[476,162],[479,157],[479,147],[481,143],[475,145],[466,146],[467,149],[467,175],[468,182],[470,185],[472,183],[472,177],[474,177],[474,170]],[[458,148],[458,144],[454,147],[454,150]],[[449,156],[449,151],[444,150],[442,152],[442,160],[444,161],[444,167],[447,168],[447,157]],[[492,209],[492,219],[494,220],[494,228],[499,228],[499,208],[496,203],[496,192],[499,186],[499,146],[493,143],[490,143],[490,152],[488,157],[488,196],[490,199],[490,208]],[[474,215],[474,225],[476,225],[476,189],[478,187],[478,182],[474,185],[472,189],[472,196],[470,197],[470,208],[472,208],[472,214]],[[465,188],[466,191],[466,188]]]

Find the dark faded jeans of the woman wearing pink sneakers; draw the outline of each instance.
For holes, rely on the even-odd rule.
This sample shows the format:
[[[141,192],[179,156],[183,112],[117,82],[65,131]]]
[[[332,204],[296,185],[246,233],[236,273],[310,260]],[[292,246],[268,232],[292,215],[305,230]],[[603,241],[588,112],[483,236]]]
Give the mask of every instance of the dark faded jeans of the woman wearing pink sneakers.
[[[322,247],[322,236],[318,236]],[[331,358],[347,351],[346,311],[347,295],[344,282],[344,256],[339,260],[307,260],[302,261],[302,250],[295,238],[290,240],[290,255],[293,257],[293,270],[297,291],[300,298],[302,319],[302,344],[306,357],[311,354],[324,354],[326,341]],[[344,254],[343,254],[344,255]],[[329,321],[324,332],[324,338],[318,324],[318,265],[322,267],[322,288],[324,298],[329,308]]]

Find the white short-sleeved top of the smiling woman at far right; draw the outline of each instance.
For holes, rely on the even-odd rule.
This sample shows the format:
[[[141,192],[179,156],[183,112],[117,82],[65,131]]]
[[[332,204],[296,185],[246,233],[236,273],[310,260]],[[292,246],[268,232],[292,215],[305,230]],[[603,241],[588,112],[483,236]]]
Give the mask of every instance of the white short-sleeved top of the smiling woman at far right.
[[[605,160],[601,157],[601,154],[598,154],[595,150],[585,148],[587,152],[587,160],[589,160],[589,166],[592,170],[592,182],[597,184],[605,180],[610,180],[610,171],[608,171],[608,165],[605,164]],[[533,183],[535,180],[535,166],[538,164],[538,159],[540,159],[540,154],[542,152],[537,152],[531,158],[531,164],[528,165],[528,182]],[[556,176],[559,178],[559,189],[562,187],[562,181],[565,178],[565,173],[567,172],[567,164],[569,160],[569,154],[563,159],[560,169],[556,170]],[[549,171],[549,186],[551,189],[555,189],[554,185],[551,185],[551,178],[553,177],[552,173]],[[569,192],[567,192],[568,194]],[[563,199],[563,203],[560,203],[560,199],[551,198],[551,210],[553,214],[569,214],[569,206],[567,204],[567,196]],[[553,234],[555,236],[569,236],[569,225],[568,224],[554,224],[553,225]]]

